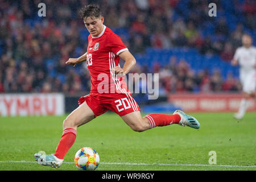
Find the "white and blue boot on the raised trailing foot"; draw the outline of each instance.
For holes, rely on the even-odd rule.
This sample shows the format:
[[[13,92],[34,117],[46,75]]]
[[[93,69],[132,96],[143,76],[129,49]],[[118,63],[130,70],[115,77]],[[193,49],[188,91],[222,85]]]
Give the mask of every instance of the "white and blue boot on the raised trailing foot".
[[[200,123],[197,121],[195,117],[192,117],[191,115],[185,114],[181,110],[175,110],[174,114],[179,114],[180,115],[180,122],[179,125],[181,126],[189,126],[192,127],[193,129],[199,129],[200,128]]]

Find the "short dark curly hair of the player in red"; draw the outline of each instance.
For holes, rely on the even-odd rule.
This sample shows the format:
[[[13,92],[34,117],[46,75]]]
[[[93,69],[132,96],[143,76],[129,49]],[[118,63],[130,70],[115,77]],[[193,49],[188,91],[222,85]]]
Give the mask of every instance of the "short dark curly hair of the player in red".
[[[86,5],[81,8],[79,11],[79,15],[81,16],[82,19],[87,18],[87,17],[95,17],[95,18],[100,18],[101,17],[101,10],[99,5]]]

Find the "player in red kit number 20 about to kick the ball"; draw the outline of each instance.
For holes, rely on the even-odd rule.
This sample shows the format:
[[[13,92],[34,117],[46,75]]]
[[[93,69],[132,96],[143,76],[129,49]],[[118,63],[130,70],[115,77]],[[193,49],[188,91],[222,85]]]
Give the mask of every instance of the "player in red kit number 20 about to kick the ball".
[[[134,67],[136,60],[118,35],[104,25],[98,5],[87,5],[80,10],[85,27],[90,32],[87,52],[79,58],[70,58],[66,64],[75,66],[86,61],[91,75],[90,94],[79,99],[79,107],[63,122],[63,134],[55,154],[35,154],[39,164],[59,168],[65,154],[76,139],[77,127],[104,114],[117,113],[134,131],[142,132],[156,126],[179,124],[199,129],[200,123],[191,115],[176,110],[174,114],[148,114],[141,116],[137,102],[127,89],[123,77]],[[125,61],[123,68],[119,59]],[[121,75],[121,76],[120,76]]]

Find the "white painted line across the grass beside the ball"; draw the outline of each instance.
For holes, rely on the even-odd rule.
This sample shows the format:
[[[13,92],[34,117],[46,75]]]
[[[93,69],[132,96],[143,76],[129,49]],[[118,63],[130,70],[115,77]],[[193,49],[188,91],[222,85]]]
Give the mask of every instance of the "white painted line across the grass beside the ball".
[[[37,163],[35,161],[25,161],[25,160],[20,160],[20,161],[0,161],[0,163]],[[73,162],[64,162],[66,164],[73,164]],[[210,165],[210,164],[164,164],[164,163],[104,163],[101,162],[100,164],[109,164],[109,165],[131,165],[131,166],[198,166],[198,167],[242,167],[242,168],[256,168],[256,166],[232,166],[232,165]]]

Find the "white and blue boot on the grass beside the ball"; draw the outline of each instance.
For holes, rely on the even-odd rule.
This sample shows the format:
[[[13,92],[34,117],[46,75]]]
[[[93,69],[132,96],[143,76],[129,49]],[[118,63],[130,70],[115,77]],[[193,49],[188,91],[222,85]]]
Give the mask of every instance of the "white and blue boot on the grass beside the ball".
[[[43,166],[51,166],[52,168],[59,168],[63,163],[63,159],[57,158],[54,154],[44,155],[36,153],[34,158],[38,164]]]

